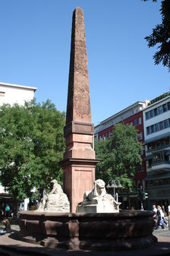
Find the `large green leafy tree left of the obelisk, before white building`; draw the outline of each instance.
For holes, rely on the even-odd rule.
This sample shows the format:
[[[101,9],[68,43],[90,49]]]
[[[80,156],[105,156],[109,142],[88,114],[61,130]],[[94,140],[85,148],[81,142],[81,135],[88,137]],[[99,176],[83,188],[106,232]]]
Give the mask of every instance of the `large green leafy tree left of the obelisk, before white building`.
[[[65,113],[50,103],[0,108],[0,182],[16,201],[31,196],[33,187],[61,182],[65,150]]]

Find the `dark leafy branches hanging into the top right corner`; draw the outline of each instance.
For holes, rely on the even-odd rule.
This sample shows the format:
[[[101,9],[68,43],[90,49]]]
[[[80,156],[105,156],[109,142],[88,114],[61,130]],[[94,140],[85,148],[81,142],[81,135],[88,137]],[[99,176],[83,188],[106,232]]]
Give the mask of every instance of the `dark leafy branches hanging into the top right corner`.
[[[153,0],[153,2],[157,1]],[[170,0],[163,0],[161,2],[160,12],[162,24],[156,25],[153,33],[150,36],[146,36],[145,40],[148,42],[149,47],[159,45],[157,47],[159,50],[153,55],[155,65],[159,65],[162,62],[170,71]]]

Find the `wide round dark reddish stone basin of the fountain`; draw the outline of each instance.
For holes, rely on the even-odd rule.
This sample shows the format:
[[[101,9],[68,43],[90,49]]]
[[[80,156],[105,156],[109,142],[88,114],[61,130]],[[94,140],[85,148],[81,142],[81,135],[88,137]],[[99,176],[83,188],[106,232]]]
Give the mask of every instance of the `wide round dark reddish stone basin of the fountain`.
[[[112,251],[146,248],[157,242],[152,211],[120,213],[20,212],[20,239],[52,248]]]

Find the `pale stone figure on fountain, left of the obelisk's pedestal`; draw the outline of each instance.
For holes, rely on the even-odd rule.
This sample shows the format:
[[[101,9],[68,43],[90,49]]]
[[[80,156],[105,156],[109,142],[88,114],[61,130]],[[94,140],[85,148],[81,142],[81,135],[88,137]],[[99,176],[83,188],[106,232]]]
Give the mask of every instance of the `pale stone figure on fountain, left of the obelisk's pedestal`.
[[[55,213],[69,213],[70,203],[67,195],[63,192],[61,185],[56,179],[52,180],[53,188],[49,194],[44,194],[36,211],[39,212],[55,212]]]

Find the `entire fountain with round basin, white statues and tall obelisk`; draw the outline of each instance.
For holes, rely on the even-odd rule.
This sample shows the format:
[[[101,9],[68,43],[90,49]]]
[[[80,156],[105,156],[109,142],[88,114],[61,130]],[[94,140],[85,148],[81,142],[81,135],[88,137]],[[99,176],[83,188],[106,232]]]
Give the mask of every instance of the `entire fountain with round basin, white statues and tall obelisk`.
[[[65,193],[58,188],[60,196],[58,191],[51,191],[38,210],[20,212],[20,239],[74,251],[146,248],[156,242],[152,234],[153,213],[119,212],[120,204],[105,192],[103,181],[95,181],[93,134],[83,11],[76,8],[72,21],[66,150],[61,163]],[[58,198],[65,198],[65,203],[60,205],[59,200],[58,204]]]

